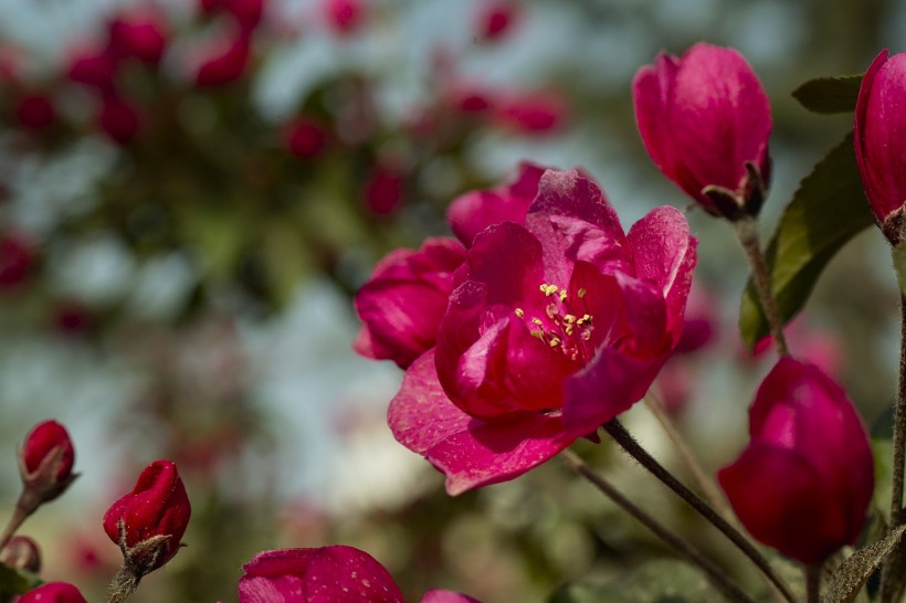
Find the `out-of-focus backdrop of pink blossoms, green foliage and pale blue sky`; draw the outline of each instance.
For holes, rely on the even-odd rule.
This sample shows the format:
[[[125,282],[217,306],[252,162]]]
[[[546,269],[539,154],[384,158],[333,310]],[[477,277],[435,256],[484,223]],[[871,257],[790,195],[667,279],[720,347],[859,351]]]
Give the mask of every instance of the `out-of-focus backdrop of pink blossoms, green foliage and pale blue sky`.
[[[487,603],[541,602],[670,554],[556,461],[443,494],[386,427],[401,372],[351,351],[351,295],[383,254],[449,234],[450,201],[523,159],[581,166],[625,228],[685,208],[644,152],[631,82],[700,40],[741,51],[771,97],[767,237],[852,121],[789,93],[904,39],[893,0],[0,0],[0,511],[18,494],[15,446],[55,417],[83,476],[23,533],[42,575],[89,600],[119,562],[104,510],[161,457],[192,500],[189,547],[138,602],[235,601],[242,563],[280,547],[357,546],[408,600],[436,586]],[[715,470],[744,446],[772,358],[736,335],[747,269],[729,229],[688,218],[689,341],[657,389]],[[791,328],[870,424],[893,398],[897,315],[871,231]],[[671,464],[647,411],[629,414]],[[612,446],[580,447],[739,563]]]

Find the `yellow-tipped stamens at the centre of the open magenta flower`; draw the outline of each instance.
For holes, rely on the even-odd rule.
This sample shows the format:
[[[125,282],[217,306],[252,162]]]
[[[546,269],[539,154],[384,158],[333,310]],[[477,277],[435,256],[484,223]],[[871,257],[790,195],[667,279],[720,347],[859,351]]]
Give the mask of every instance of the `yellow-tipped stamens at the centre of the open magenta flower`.
[[[586,342],[591,340],[591,331],[594,330],[593,317],[584,311],[588,309],[586,289],[570,296],[566,287],[541,283],[539,290],[547,306],[544,317],[528,317],[531,336],[551,348],[560,349],[573,362],[584,364],[590,360]],[[526,318],[523,308],[514,311],[519,318]]]

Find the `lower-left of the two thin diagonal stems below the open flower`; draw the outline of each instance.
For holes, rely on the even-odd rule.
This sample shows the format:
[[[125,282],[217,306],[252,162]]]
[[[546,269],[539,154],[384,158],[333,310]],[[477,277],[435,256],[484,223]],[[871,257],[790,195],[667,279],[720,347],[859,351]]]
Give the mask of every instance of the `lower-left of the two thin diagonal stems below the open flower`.
[[[705,557],[698,549],[680,538],[676,533],[667,529],[663,523],[657,521],[654,517],[636,507],[631,500],[624,497],[610,482],[594,473],[584,461],[582,461],[576,453],[566,449],[561,453],[570,467],[576,473],[588,479],[596,488],[601,490],[604,496],[613,500],[618,507],[634,517],[640,523],[650,529],[654,535],[673,547],[676,552],[686,561],[697,565],[708,580],[717,589],[727,601],[734,603],[754,603],[752,599],[747,595],[737,584],[735,584],[729,576],[718,568],[710,559]]]

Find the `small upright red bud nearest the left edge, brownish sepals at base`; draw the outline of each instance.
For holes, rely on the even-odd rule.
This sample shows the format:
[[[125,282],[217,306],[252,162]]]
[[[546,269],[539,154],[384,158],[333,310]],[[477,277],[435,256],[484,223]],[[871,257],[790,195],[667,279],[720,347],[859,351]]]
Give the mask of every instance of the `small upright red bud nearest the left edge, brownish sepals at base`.
[[[31,512],[63,494],[77,477],[72,473],[74,462],[75,449],[63,425],[44,421],[32,427],[19,455],[24,510]]]

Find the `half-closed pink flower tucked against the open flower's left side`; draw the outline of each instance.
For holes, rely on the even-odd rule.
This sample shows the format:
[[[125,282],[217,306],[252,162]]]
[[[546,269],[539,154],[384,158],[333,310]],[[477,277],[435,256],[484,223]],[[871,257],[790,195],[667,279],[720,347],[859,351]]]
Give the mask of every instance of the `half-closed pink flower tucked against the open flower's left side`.
[[[365,325],[355,350],[405,369],[433,348],[453,273],[464,261],[465,248],[452,239],[429,239],[419,251],[397,250],[381,260],[356,294]]]

